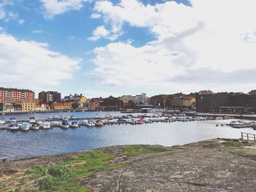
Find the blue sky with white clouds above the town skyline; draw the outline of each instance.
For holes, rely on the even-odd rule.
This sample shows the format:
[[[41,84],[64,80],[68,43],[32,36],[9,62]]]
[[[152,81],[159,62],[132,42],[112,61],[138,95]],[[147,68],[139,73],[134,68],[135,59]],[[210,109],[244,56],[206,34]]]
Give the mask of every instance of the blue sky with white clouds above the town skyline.
[[[0,86],[122,96],[256,89],[255,0],[0,0]]]

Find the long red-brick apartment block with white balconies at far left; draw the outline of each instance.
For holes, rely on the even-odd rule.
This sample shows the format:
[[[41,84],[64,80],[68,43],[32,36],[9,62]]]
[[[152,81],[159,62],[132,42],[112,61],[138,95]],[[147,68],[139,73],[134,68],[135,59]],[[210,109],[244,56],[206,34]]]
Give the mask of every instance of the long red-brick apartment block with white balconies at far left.
[[[34,92],[29,89],[0,88],[0,102],[10,104],[24,100],[34,100]]]

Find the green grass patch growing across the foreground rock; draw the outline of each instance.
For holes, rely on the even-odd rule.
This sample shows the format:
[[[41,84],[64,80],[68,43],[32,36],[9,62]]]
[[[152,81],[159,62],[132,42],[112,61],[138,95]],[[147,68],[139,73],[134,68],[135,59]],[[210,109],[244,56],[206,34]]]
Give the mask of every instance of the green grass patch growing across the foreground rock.
[[[72,156],[66,161],[43,167],[34,167],[26,172],[27,175],[42,178],[39,191],[83,191],[89,192],[90,188],[80,185],[79,180],[91,177],[97,172],[127,167],[129,161],[110,164],[110,160],[121,155],[136,156],[148,153],[159,153],[167,149],[157,146],[129,145],[123,153],[110,154],[105,150],[91,150],[81,155]]]

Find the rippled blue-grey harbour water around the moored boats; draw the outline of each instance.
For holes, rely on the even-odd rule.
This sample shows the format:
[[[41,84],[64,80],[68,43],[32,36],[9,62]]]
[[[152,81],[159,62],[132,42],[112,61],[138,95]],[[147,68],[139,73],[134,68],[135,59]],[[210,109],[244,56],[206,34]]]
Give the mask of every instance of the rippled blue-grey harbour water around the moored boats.
[[[48,116],[75,115],[78,118],[121,115],[119,112],[70,112],[57,114],[33,114],[37,119]],[[31,114],[10,115],[18,119],[27,119]],[[8,117],[9,118],[9,117]],[[217,137],[236,138],[241,131],[256,134],[252,128],[230,128],[216,126],[229,123],[230,120],[207,120],[175,123],[151,123],[143,125],[115,125],[103,128],[53,128],[39,131],[0,131],[0,157],[26,158],[39,155],[53,155],[89,150],[111,145],[184,145]]]

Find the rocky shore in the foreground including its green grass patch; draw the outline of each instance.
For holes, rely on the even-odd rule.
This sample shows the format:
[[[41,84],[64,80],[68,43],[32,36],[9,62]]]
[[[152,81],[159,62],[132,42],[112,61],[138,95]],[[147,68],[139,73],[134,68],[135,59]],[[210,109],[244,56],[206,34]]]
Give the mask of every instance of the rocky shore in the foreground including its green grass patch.
[[[0,163],[0,191],[255,191],[256,142],[127,145]]]

